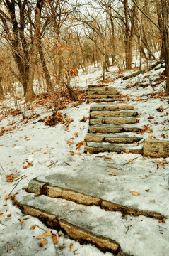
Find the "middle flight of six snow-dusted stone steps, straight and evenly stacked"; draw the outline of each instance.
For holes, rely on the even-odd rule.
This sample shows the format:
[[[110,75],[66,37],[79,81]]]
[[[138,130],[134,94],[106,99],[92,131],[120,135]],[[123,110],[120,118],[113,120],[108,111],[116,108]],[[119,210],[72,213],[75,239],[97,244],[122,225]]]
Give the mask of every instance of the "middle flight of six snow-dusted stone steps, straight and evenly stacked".
[[[141,137],[136,132],[139,119],[136,111],[129,105],[96,104],[90,109],[88,134],[84,151],[99,153],[104,151],[129,152],[142,154]]]

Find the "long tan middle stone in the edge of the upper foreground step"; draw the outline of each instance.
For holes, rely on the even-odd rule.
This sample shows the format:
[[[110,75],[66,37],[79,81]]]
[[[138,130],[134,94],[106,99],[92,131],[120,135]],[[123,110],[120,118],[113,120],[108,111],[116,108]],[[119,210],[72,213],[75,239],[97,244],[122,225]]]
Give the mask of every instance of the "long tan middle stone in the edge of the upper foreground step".
[[[85,206],[100,206],[100,198],[95,198],[84,193],[78,193],[71,189],[60,188],[57,186],[45,186],[44,194],[52,198],[62,198]]]

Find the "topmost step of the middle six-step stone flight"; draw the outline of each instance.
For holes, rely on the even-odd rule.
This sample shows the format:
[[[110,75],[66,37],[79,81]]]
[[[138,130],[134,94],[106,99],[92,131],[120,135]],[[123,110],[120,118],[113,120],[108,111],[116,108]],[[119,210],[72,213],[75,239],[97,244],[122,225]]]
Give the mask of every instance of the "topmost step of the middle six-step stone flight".
[[[94,105],[90,108],[91,111],[120,111],[120,110],[134,110],[134,106],[129,105],[110,105],[110,104],[104,104],[104,105]]]

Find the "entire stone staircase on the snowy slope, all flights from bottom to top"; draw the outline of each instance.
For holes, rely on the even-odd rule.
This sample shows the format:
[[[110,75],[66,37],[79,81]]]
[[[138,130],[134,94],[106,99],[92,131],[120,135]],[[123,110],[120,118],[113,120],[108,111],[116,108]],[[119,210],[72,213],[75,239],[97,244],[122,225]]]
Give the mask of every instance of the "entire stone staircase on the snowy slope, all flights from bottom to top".
[[[137,146],[141,137],[135,136],[135,132],[139,132],[137,113],[133,106],[110,104],[118,100],[121,99],[115,88],[106,85],[88,88],[88,102],[100,104],[91,106],[85,152],[126,149],[142,152]],[[165,216],[117,204],[113,198],[110,200],[114,181],[105,173],[108,163],[100,160],[99,164],[96,160],[93,165],[92,161],[84,159],[81,165],[78,164],[76,173],[67,167],[64,172],[57,170],[55,174],[34,178],[28,185],[30,193],[16,195],[13,203],[23,213],[39,218],[47,227],[61,230],[71,239],[90,243],[112,255],[127,256],[120,246],[123,241],[119,234],[124,233],[122,216],[143,215],[158,220]]]

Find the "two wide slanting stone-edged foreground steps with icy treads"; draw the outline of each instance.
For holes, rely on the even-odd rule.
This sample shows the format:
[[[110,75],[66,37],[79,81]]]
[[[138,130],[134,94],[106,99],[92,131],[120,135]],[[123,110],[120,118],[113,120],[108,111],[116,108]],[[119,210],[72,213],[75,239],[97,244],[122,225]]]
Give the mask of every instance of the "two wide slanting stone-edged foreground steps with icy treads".
[[[98,172],[103,177],[103,168],[97,170],[97,175]],[[123,240],[120,233],[125,232],[122,215],[129,218],[137,216],[139,225],[144,218],[141,226],[143,235],[146,225],[152,225],[149,218],[157,221],[165,218],[160,213],[136,210],[108,201],[106,197],[112,186],[107,187],[107,182],[98,182],[95,175],[91,174],[90,180],[87,177],[88,169],[83,172],[79,169],[76,176],[69,172],[37,177],[29,182],[28,190],[31,193],[16,195],[13,203],[23,213],[39,218],[49,228],[62,230],[74,240],[91,243],[103,252],[118,256],[127,255],[121,250]],[[127,233],[124,243],[129,242],[129,236]]]

